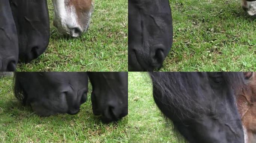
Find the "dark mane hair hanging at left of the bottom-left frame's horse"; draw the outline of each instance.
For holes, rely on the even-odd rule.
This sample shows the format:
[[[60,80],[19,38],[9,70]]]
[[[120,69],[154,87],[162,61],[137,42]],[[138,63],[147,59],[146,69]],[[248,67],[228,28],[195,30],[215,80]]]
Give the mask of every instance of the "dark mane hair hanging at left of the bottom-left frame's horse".
[[[18,101],[21,102],[22,105],[26,105],[28,96],[23,89],[22,83],[20,81],[22,81],[22,77],[17,76],[17,72],[15,72],[13,76],[13,93],[15,98],[18,99]]]

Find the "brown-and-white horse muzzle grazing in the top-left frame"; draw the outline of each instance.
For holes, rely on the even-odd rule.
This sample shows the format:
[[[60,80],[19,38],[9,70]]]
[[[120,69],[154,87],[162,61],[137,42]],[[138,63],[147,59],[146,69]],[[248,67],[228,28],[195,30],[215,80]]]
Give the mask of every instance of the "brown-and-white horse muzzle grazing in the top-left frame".
[[[91,14],[93,0],[52,0],[54,5],[54,26],[62,35],[80,36],[86,32]]]

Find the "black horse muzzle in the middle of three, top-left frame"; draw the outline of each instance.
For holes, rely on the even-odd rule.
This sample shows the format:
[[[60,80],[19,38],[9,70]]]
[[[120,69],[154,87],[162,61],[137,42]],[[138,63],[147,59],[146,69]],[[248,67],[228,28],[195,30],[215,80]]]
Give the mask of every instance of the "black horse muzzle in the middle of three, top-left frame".
[[[43,54],[49,44],[47,1],[9,0],[9,3],[17,29],[19,60],[28,63]]]

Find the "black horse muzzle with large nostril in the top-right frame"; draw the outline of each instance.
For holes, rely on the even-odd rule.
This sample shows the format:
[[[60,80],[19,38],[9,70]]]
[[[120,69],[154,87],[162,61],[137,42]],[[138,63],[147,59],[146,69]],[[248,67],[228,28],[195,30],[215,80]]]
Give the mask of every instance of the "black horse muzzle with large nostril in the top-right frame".
[[[128,70],[160,69],[173,43],[168,0],[128,0]]]

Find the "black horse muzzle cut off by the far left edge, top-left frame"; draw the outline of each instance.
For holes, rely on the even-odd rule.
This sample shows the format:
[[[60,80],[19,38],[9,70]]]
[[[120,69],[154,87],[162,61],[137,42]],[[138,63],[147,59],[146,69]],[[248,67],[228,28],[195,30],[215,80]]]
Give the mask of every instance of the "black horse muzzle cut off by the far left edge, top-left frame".
[[[18,37],[9,1],[0,4],[0,71],[15,71],[18,62]]]

